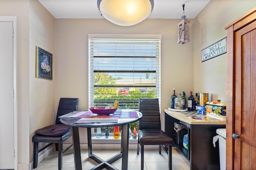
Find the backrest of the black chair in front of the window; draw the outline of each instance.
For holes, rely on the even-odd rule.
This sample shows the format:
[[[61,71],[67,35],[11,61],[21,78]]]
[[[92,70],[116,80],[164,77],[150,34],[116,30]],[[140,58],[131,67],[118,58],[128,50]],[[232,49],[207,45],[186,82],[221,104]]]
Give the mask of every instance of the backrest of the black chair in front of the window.
[[[138,129],[161,129],[158,98],[140,98],[139,111],[142,119]]]

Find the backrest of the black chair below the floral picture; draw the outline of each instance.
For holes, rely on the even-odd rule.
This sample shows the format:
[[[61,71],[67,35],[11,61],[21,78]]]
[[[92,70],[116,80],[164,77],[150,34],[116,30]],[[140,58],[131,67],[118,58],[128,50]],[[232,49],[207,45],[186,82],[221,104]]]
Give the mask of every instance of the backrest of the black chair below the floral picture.
[[[77,111],[77,107],[78,98],[60,98],[55,124],[62,124],[58,117],[71,111]]]

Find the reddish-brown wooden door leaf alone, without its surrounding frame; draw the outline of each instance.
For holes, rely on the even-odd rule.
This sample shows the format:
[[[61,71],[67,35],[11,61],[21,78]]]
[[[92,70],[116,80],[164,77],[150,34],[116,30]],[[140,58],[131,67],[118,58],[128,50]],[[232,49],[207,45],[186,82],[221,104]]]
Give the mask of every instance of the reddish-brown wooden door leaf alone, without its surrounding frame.
[[[256,167],[256,21],[235,33],[234,169]]]

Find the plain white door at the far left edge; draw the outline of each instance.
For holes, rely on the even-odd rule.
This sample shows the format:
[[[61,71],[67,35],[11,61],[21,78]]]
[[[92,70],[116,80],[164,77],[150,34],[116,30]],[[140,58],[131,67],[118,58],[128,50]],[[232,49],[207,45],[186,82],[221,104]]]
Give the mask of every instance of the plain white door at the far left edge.
[[[0,22],[0,169],[14,169],[13,22]]]

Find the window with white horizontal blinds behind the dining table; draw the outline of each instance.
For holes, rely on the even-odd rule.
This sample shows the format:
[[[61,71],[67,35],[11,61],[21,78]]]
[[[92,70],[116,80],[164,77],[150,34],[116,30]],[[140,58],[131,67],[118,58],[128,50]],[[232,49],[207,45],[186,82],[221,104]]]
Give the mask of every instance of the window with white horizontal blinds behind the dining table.
[[[160,99],[161,36],[121,36],[89,35],[89,107],[117,100],[118,108],[138,109],[139,98]]]

